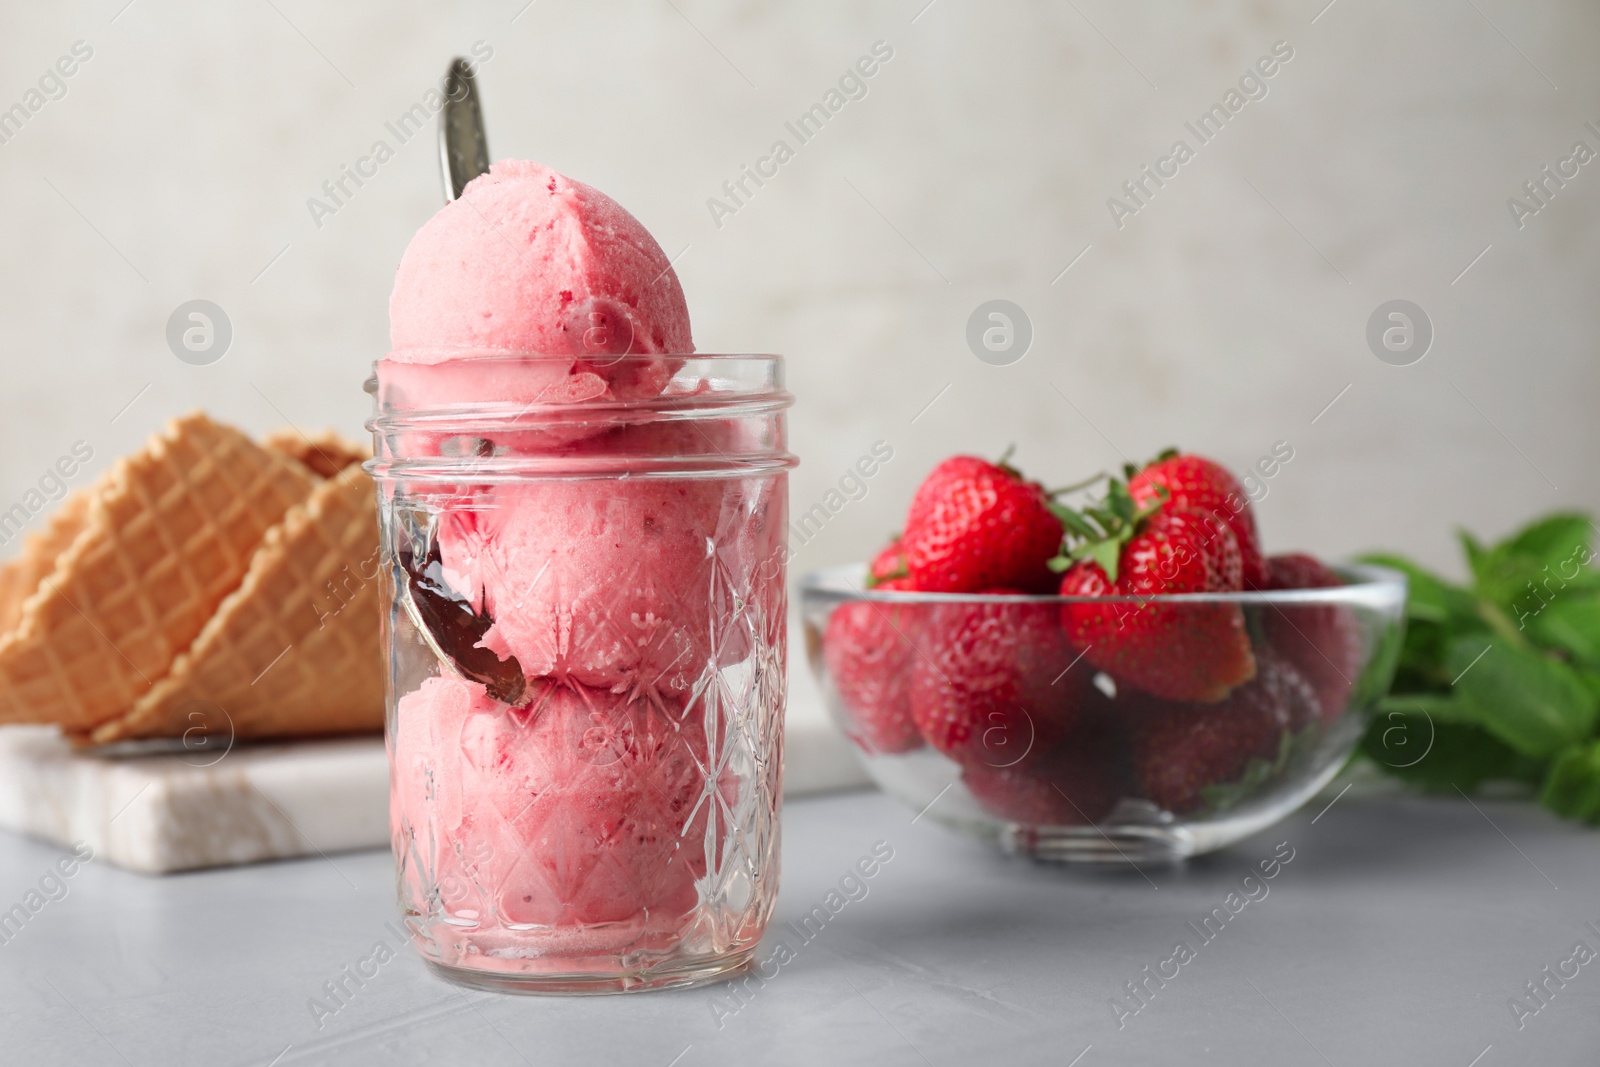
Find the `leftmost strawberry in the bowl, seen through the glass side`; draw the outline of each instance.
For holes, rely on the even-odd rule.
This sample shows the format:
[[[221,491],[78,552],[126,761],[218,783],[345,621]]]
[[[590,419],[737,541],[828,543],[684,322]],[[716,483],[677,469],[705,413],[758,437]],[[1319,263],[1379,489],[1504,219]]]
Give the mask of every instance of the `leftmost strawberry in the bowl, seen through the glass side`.
[[[910,589],[891,577],[877,589]],[[850,718],[845,733],[867,753],[899,753],[922,747],[910,717],[912,648],[920,605],[853,600],[834,609],[822,635],[822,662]]]

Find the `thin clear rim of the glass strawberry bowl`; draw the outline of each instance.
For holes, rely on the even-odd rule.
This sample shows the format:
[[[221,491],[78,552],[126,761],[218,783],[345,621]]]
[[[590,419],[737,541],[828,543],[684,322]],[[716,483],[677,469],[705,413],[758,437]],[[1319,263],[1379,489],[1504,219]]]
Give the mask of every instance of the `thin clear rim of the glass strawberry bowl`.
[[[1406,576],[1389,566],[1376,563],[1344,563],[1333,565],[1333,571],[1346,577],[1344,585],[1328,585],[1322,589],[1270,589],[1270,590],[1238,590],[1219,593],[1155,593],[1152,597],[1061,597],[1058,593],[941,593],[910,592],[902,589],[866,589],[866,563],[842,563],[808,571],[800,579],[800,592],[805,597],[821,597],[830,600],[869,600],[882,603],[968,603],[968,605],[1077,605],[1077,603],[1162,603],[1162,605],[1203,605],[1203,603],[1237,603],[1237,605],[1350,605],[1370,603],[1373,606],[1398,601],[1405,603]]]

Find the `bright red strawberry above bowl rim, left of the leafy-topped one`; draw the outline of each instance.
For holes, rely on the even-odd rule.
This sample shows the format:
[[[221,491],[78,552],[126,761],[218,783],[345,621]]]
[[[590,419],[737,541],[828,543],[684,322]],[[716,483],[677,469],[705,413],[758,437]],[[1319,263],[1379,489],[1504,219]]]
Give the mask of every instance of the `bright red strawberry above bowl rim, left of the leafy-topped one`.
[[[1002,462],[954,456],[933,469],[906,515],[906,565],[917,589],[1050,592],[1061,520],[1034,482]]]

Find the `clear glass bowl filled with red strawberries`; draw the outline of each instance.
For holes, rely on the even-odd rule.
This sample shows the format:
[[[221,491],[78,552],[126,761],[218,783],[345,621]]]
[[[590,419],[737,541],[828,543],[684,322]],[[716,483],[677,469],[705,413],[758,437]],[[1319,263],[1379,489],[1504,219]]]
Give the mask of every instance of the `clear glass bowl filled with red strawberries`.
[[[802,582],[806,651],[867,773],[917,817],[1072,862],[1176,861],[1299,808],[1389,688],[1405,577],[1163,597]],[[1093,640],[1085,635],[1093,633]]]

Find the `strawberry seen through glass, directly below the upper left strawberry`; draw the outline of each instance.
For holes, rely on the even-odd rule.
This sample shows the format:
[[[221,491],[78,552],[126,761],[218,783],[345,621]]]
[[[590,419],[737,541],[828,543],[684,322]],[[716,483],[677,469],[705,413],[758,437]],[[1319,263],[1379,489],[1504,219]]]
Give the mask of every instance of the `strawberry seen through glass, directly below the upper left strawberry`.
[[[1056,609],[1042,603],[942,603],[912,664],[922,736],[966,766],[1022,768],[1048,752],[1078,710]]]

